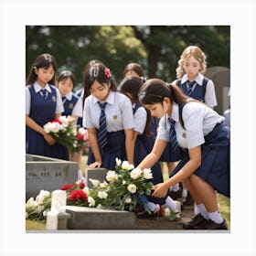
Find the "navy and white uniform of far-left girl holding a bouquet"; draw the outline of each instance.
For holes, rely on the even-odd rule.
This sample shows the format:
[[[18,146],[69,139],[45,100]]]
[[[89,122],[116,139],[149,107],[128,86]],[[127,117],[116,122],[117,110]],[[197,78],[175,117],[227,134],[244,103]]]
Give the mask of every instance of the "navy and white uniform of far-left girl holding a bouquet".
[[[46,84],[46,98],[37,82],[26,87],[26,114],[41,127],[55,118],[55,114],[64,111],[59,90]],[[49,145],[41,133],[26,126],[26,153],[58,158],[58,144]]]

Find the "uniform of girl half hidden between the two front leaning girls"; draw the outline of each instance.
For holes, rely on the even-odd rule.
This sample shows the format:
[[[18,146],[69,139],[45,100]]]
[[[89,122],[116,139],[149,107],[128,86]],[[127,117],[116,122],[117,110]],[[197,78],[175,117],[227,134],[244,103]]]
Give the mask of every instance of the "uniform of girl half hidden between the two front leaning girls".
[[[147,112],[145,111],[144,107],[135,104],[133,105],[133,115],[134,115],[134,131],[138,132],[137,139],[135,142],[134,147],[134,165],[139,165],[144,157],[151,153],[152,150],[152,144],[155,142],[155,138],[153,136],[150,136],[147,138],[144,134],[144,128],[146,124],[147,119]],[[161,171],[161,166],[159,162],[157,162],[155,165],[151,167],[153,178],[148,180],[148,182],[152,182],[154,185],[158,183],[164,182],[163,175]],[[153,202],[155,204],[165,204],[165,197],[164,198],[157,198],[157,197],[151,197],[146,196],[147,200],[150,202]]]

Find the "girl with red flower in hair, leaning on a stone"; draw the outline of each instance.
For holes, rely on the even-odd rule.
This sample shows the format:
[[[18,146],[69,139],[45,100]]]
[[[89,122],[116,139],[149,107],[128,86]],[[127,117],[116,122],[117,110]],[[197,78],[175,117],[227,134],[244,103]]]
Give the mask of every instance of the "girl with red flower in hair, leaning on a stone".
[[[117,91],[110,69],[95,63],[84,70],[83,126],[89,133],[88,164],[114,169],[115,158],[133,164],[133,108],[129,98]]]

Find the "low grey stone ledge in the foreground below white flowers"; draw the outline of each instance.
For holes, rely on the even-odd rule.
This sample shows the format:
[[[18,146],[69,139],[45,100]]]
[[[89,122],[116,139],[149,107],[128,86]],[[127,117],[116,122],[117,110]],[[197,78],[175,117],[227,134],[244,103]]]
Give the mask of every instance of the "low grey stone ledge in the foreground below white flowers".
[[[114,209],[98,209],[67,206],[71,215],[67,220],[67,229],[134,229],[133,212]]]

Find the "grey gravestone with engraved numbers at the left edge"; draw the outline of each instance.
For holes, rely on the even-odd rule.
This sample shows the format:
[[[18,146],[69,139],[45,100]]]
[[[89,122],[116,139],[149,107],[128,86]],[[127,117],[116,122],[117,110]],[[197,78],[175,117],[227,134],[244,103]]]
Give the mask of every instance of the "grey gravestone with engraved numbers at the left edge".
[[[78,180],[78,164],[57,158],[26,155],[26,201],[40,190],[53,191]]]

